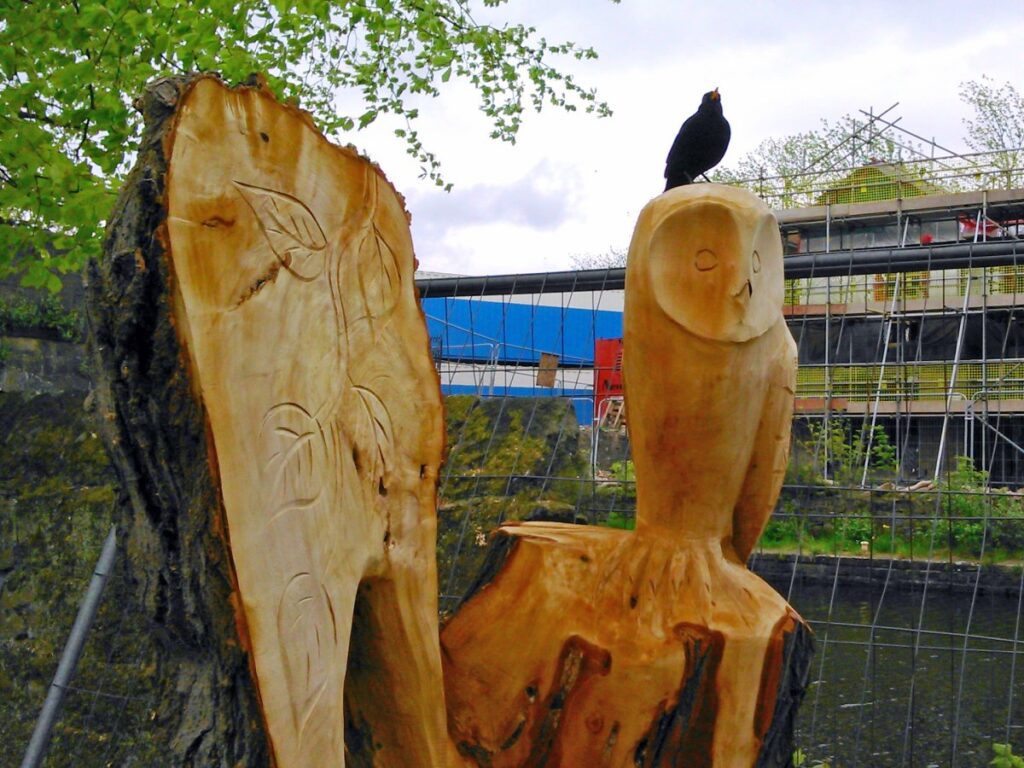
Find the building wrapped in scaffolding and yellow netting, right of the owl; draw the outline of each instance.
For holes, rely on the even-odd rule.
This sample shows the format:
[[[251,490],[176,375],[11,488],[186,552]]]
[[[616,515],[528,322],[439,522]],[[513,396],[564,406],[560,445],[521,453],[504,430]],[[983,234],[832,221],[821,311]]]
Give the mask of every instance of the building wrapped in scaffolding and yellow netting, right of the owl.
[[[862,483],[881,430],[898,479],[938,478],[963,456],[990,482],[1020,484],[1024,151],[955,154],[897,125],[894,108],[861,112],[800,173],[738,182],[776,209],[791,259],[831,267],[786,283],[797,433],[820,438],[826,476],[838,425],[864,449]],[[880,150],[886,161],[871,157]],[[973,258],[982,250],[986,264]]]

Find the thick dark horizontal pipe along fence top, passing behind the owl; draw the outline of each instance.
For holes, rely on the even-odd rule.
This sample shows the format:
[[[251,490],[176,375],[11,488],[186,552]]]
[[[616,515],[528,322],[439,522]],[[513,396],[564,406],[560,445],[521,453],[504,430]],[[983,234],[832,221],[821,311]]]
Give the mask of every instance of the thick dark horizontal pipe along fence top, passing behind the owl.
[[[946,246],[872,248],[831,253],[806,253],[786,257],[782,266],[786,280],[835,278],[879,272],[915,272],[938,269],[980,268],[1024,263],[1024,241],[956,243]],[[416,281],[420,296],[472,298],[535,293],[583,293],[621,291],[626,269],[565,270],[522,274],[485,274],[461,278],[430,278]]]

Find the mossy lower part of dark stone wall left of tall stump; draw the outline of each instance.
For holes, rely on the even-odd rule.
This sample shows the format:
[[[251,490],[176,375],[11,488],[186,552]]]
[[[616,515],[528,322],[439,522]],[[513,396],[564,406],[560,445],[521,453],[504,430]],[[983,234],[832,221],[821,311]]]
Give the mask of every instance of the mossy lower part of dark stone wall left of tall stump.
[[[79,393],[0,392],[0,742],[14,762],[114,519],[117,479],[92,418]],[[116,568],[47,766],[160,764],[145,727],[154,638],[129,594]]]

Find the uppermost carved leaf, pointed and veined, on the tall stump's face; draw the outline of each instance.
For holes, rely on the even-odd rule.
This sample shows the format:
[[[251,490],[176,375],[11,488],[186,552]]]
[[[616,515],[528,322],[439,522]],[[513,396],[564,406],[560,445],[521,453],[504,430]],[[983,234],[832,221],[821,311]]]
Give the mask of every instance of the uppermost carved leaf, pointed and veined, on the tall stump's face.
[[[303,282],[315,280],[324,271],[327,238],[312,211],[285,193],[233,183],[285,268]]]

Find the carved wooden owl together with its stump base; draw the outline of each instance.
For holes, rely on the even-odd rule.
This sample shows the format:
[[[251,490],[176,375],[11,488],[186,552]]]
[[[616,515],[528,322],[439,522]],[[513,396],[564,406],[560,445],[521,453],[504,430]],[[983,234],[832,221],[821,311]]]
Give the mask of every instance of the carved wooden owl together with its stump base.
[[[499,529],[441,633],[449,728],[481,766],[787,765],[809,630],[745,567],[785,470],[796,345],[777,223],[668,191],[626,281],[634,531]]]

